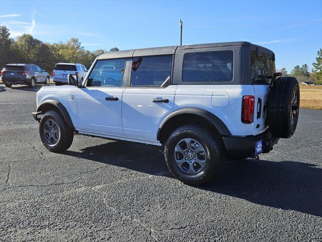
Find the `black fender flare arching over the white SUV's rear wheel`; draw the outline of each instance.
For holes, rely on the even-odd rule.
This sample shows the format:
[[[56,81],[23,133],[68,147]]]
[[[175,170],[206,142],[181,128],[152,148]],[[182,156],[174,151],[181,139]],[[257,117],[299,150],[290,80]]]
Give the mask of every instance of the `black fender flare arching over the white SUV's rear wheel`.
[[[159,129],[157,131],[156,139],[160,140],[160,135],[162,128],[164,125],[174,116],[180,115],[180,114],[195,114],[198,116],[201,116],[205,119],[207,119],[216,129],[218,130],[219,134],[222,136],[231,136],[231,133],[229,132],[228,128],[226,125],[220,120],[219,117],[217,117],[215,114],[206,111],[204,109],[200,108],[194,108],[194,107],[187,107],[187,108],[182,108],[178,109],[172,113],[170,113],[160,124]]]

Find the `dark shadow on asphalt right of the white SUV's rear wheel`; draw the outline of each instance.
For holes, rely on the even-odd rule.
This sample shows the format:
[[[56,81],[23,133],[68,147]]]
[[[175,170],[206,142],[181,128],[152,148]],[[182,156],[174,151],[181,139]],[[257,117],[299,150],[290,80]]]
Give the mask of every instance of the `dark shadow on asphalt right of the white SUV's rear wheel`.
[[[201,189],[322,216],[321,174],[309,163],[245,159],[227,162],[218,179]]]

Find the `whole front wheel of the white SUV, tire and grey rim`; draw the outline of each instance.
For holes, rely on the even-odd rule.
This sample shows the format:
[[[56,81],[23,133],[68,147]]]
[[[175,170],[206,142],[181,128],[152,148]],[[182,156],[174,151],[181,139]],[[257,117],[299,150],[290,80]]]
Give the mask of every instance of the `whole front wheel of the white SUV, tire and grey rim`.
[[[52,152],[67,150],[73,140],[73,130],[56,111],[45,112],[39,123],[39,134],[43,145]]]

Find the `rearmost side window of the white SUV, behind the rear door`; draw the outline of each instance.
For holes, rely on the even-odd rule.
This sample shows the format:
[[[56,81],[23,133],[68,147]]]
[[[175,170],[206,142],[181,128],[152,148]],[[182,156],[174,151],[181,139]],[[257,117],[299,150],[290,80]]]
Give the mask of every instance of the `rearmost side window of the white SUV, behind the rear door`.
[[[233,51],[186,53],[183,58],[183,82],[229,82],[233,77]]]

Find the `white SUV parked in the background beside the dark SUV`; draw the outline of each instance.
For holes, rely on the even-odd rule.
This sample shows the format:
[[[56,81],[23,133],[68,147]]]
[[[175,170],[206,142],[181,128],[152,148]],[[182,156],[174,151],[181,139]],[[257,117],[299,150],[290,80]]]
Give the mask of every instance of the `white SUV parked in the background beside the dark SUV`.
[[[67,84],[67,75],[72,74],[78,77],[78,80],[83,82],[87,68],[79,63],[57,63],[52,71],[53,81],[56,86]]]

